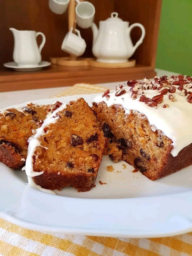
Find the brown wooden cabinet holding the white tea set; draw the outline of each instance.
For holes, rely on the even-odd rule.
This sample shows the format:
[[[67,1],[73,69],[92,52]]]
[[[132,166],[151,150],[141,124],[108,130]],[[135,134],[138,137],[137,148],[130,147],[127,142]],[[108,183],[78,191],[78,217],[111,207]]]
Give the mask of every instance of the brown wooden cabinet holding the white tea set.
[[[143,43],[132,58],[136,59],[133,68],[93,68],[62,67],[52,65],[37,72],[16,72],[3,67],[3,63],[12,61],[13,36],[10,27],[20,30],[41,31],[46,36],[42,50],[42,60],[50,57],[67,56],[60,47],[68,31],[67,12],[57,15],[48,7],[48,0],[4,0],[0,1],[0,91],[23,90],[73,85],[79,82],[102,83],[127,79],[141,79],[155,75],[156,48],[161,13],[161,0],[90,0],[95,6],[95,23],[107,19],[111,12],[129,21],[130,25],[140,22],[146,29]],[[92,57],[92,30],[81,29],[87,48],[83,57]],[[140,37],[140,29],[131,32],[133,43]],[[38,39],[40,40],[40,38]]]

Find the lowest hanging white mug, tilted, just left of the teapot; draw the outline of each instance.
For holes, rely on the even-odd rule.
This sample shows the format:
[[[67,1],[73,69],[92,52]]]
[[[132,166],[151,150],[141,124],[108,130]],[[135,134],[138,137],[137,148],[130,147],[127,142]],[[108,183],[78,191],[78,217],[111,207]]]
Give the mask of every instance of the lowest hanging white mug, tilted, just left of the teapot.
[[[61,50],[75,56],[81,56],[84,54],[86,49],[85,40],[81,37],[80,31],[75,29],[76,34],[72,32],[72,29],[65,36],[61,45]]]

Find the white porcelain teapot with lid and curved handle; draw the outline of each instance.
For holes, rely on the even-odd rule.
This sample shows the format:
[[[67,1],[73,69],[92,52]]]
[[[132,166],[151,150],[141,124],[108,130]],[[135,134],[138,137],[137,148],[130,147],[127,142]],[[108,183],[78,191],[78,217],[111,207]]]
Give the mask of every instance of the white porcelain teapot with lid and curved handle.
[[[130,37],[132,28],[140,27],[142,34],[133,46]],[[118,18],[117,12],[111,13],[111,18],[99,22],[99,29],[92,24],[93,46],[92,53],[99,62],[127,62],[137,47],[143,42],[145,28],[140,23],[129,27],[129,22]]]

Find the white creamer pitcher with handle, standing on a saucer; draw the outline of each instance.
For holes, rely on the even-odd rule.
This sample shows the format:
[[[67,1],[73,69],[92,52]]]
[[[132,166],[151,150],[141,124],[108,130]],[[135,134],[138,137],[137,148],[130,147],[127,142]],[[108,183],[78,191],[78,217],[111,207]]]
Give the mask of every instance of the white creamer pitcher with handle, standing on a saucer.
[[[14,36],[13,60],[22,67],[36,67],[41,61],[41,50],[46,38],[42,32],[17,30],[10,28]],[[36,37],[42,36],[42,43],[37,45]]]

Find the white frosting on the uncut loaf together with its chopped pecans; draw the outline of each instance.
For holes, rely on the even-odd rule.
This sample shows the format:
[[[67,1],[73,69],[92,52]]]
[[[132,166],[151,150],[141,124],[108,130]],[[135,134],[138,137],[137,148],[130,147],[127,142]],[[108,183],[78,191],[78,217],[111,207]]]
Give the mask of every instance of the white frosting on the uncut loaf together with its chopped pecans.
[[[152,82],[150,82],[148,79],[144,79],[143,83],[135,83],[136,81],[134,81],[136,85],[135,90],[137,90],[137,92],[140,90],[139,95],[137,94],[136,96],[133,95],[134,86],[133,88],[131,87],[131,85],[134,84],[130,84],[128,81],[129,86],[125,85],[121,89],[119,86],[117,86],[117,89],[109,92],[107,97],[106,95],[103,96],[104,94],[96,96],[92,103],[105,102],[108,107],[113,105],[121,105],[126,114],[129,114],[130,110],[138,111],[141,114],[144,114],[148,118],[151,126],[155,126],[157,130],[161,130],[168,138],[172,140],[173,148],[171,154],[172,156],[177,156],[182,148],[192,143],[192,103],[190,103],[192,100],[189,100],[189,98],[191,98],[191,96],[189,96],[190,92],[192,93],[192,83],[190,77],[187,77],[187,79],[185,76],[182,76],[181,78],[183,79],[180,80],[187,81],[182,81],[180,83],[181,87],[179,87],[179,79],[174,76],[166,79],[167,85],[165,82],[162,84],[162,80],[164,79],[161,79],[160,77],[156,77]],[[149,85],[150,88],[156,88],[156,85],[158,88],[160,86],[165,87],[160,88],[160,90],[158,90],[158,88],[155,90],[146,90],[145,88],[149,87]],[[169,90],[172,86],[175,87],[175,92],[167,92],[164,94],[163,102],[157,104],[155,107],[149,107],[148,103],[145,104],[145,102],[140,101],[141,95],[145,95],[147,98],[152,99],[154,96],[159,95],[165,88]],[[132,91],[130,91],[130,89]],[[118,90],[121,93],[123,90],[125,90],[125,92],[121,94],[117,92]],[[186,96],[184,96],[186,94],[185,90],[188,92]],[[121,95],[115,96],[115,94]],[[174,99],[172,99],[172,97],[170,99],[169,95],[172,95],[173,97],[175,96]]]

